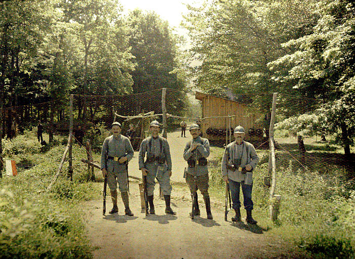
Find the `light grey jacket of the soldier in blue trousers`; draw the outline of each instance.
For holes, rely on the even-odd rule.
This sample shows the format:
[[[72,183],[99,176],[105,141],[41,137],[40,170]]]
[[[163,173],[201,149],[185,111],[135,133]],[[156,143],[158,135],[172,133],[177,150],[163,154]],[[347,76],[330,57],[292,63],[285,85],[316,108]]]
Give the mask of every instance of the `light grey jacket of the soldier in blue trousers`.
[[[241,155],[242,154],[242,155]],[[240,145],[236,145],[236,142],[233,141],[229,143],[224,151],[222,159],[222,176],[227,176],[232,181],[241,182],[245,180],[245,174],[241,174],[238,170],[227,169],[229,155],[229,163],[233,163],[234,158],[241,158],[240,166],[245,166],[250,164],[253,167],[253,170],[259,162],[259,157],[255,151],[253,144],[242,141]]]

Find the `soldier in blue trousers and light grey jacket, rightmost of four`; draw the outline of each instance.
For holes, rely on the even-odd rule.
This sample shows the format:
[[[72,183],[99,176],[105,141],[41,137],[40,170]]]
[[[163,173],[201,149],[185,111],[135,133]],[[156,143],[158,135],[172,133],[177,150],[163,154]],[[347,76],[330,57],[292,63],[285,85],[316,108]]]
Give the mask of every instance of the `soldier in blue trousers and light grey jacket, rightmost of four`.
[[[246,210],[245,221],[250,224],[257,224],[252,217],[253,201],[253,170],[258,164],[259,157],[253,144],[244,141],[244,128],[237,126],[234,129],[235,141],[228,144],[222,159],[223,180],[229,184],[231,190],[233,209],[235,217],[234,222],[240,222],[240,186],[244,197],[244,208]]]

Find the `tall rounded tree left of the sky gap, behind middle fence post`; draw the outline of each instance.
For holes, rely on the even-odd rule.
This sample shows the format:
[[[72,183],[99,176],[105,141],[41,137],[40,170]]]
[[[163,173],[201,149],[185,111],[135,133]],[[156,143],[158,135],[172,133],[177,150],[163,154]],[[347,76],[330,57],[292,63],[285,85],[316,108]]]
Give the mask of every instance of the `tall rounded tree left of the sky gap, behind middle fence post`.
[[[132,11],[127,18],[130,31],[130,46],[135,56],[136,69],[132,72],[133,93],[160,88],[177,90],[169,92],[167,109],[181,113],[186,103],[183,93],[185,81],[179,77],[177,37],[168,23],[154,12]],[[140,112],[143,107],[161,111],[160,100],[137,100]],[[149,109],[149,108],[148,108]]]

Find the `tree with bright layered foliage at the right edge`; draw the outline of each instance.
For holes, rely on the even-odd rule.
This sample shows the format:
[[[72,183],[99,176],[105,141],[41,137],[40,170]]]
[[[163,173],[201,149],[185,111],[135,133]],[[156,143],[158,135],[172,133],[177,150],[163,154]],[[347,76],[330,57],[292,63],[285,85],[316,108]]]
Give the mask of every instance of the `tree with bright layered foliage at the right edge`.
[[[330,132],[349,154],[355,137],[355,5],[324,0],[318,10],[313,32],[287,42],[285,47],[297,51],[270,68],[293,91],[321,101],[311,113],[326,116]]]

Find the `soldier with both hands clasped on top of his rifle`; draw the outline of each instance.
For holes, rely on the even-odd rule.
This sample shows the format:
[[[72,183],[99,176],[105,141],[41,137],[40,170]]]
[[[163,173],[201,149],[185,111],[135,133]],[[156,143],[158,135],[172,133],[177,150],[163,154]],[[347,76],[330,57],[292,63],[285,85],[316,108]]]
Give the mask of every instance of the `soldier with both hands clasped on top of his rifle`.
[[[207,139],[199,136],[201,132],[199,125],[192,124],[189,130],[193,139],[186,143],[184,149],[184,159],[188,162],[188,167],[185,169],[186,183],[190,187],[191,197],[195,194],[194,214],[200,214],[197,200],[197,190],[199,189],[206,205],[207,219],[212,220],[213,217],[208,194],[208,168],[206,159],[209,156],[209,142]],[[194,177],[196,177],[196,179],[194,179]]]

